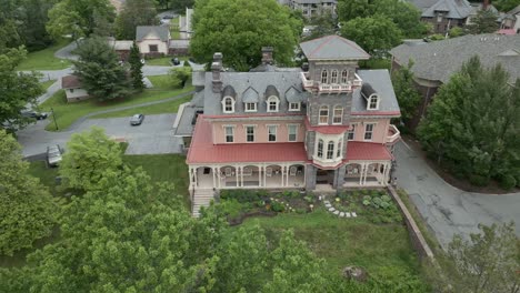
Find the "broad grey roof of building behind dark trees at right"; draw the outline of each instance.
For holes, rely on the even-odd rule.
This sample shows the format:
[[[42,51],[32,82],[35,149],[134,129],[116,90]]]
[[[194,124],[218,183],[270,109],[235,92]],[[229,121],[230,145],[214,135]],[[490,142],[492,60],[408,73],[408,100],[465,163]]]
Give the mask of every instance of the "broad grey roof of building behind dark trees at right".
[[[484,67],[501,63],[511,82],[520,78],[520,34],[468,34],[414,47],[401,44],[390,53],[401,65],[412,59],[414,75],[427,80],[446,83],[473,55],[479,55]]]

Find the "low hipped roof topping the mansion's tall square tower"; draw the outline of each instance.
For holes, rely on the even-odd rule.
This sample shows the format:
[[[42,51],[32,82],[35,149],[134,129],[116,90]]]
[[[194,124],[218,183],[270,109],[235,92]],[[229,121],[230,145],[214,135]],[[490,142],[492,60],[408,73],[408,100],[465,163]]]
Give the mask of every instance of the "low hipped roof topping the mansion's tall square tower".
[[[368,60],[367,53],[356,42],[332,34],[300,43],[308,60]]]

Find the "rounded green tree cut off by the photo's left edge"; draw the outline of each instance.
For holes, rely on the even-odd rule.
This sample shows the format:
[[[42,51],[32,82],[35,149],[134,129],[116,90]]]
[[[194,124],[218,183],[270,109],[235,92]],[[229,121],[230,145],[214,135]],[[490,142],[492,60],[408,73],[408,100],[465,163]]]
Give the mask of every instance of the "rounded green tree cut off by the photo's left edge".
[[[0,130],[0,255],[12,255],[50,235],[57,203],[38,179],[28,174],[20,145]]]

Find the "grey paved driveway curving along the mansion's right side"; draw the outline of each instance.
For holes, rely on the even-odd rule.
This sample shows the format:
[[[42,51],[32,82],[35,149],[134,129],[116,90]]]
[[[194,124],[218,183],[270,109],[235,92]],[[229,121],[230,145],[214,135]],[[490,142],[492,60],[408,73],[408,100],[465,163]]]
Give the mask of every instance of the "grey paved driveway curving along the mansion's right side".
[[[398,185],[408,191],[444,247],[456,233],[478,232],[479,223],[514,221],[520,236],[520,193],[496,195],[456,189],[402,142],[396,146],[396,158]]]

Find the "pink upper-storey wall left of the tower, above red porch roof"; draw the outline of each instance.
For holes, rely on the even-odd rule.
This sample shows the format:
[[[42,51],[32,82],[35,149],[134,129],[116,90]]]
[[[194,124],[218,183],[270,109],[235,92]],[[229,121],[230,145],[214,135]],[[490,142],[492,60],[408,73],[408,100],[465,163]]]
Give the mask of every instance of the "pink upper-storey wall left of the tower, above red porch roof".
[[[268,141],[268,128],[267,125],[278,125],[277,128],[277,141],[276,142],[289,142],[289,133],[287,124],[298,124],[297,142],[302,142],[306,137],[306,130],[302,121],[251,121],[251,122],[213,122],[213,143],[227,143],[224,135],[224,125],[234,127],[234,143],[272,143]],[[246,142],[246,125],[254,127],[254,142]]]

